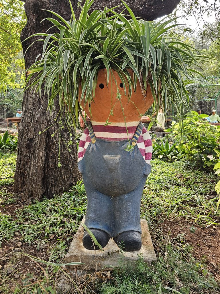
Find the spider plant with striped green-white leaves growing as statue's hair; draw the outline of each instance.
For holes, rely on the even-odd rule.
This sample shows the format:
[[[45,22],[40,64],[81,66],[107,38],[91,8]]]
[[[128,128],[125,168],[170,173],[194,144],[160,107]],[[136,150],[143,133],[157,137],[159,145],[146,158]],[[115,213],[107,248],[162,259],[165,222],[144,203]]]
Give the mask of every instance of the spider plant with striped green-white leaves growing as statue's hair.
[[[79,19],[72,9],[70,21],[53,11],[57,19],[47,18],[56,27],[56,33],[39,33],[43,52],[28,69],[25,88],[33,87],[48,95],[48,108],[54,107],[59,96],[60,108],[66,109],[74,126],[78,124],[79,103],[84,98],[89,103],[95,95],[99,69],[106,69],[107,83],[115,70],[123,83],[125,95],[131,97],[141,84],[143,96],[150,86],[154,106],[167,107],[172,91],[175,106],[180,110],[189,101],[186,81],[194,73],[193,68],[204,60],[199,51],[189,44],[167,35],[177,24],[175,19],[163,19],[157,23],[137,20],[131,9],[122,1],[129,15],[119,14],[114,8],[105,7],[88,14],[92,1],[81,7]],[[30,37],[29,37],[30,38]],[[31,45],[30,45],[31,46]],[[133,76],[128,72],[132,69]],[[202,74],[200,74],[202,75]],[[125,85],[128,86],[126,93]],[[82,94],[78,95],[82,85]],[[120,98],[120,97],[119,97]]]

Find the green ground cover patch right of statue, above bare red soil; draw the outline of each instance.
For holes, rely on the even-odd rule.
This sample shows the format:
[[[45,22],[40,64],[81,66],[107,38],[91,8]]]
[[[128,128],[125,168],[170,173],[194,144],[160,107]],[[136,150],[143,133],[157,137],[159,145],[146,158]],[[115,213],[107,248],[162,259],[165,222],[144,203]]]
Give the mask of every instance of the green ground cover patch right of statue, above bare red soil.
[[[213,173],[189,168],[184,163],[154,159],[143,192],[141,216],[148,222],[155,218],[184,217],[197,225],[219,223],[219,196]]]

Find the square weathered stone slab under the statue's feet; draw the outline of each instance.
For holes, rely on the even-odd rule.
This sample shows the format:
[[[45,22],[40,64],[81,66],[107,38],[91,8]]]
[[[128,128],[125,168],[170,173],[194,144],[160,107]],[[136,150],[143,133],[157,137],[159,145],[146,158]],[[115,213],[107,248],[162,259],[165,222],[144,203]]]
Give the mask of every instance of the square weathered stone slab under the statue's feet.
[[[84,222],[84,219],[82,222]],[[151,264],[152,262],[156,261],[156,255],[153,249],[147,221],[144,219],[141,219],[141,230],[141,249],[134,252],[123,252],[124,262],[129,263],[131,266],[134,266],[134,262],[138,259],[138,255],[140,254],[143,256],[143,260],[146,263]],[[109,243],[103,248],[104,251],[88,250],[84,248],[82,245],[82,238],[83,227],[80,225],[66,255],[65,263],[83,262],[85,265],[79,266],[82,270],[101,270],[104,266],[119,266],[119,258],[121,257],[121,253],[113,238],[111,238]],[[75,265],[67,266],[67,268],[76,269]]]

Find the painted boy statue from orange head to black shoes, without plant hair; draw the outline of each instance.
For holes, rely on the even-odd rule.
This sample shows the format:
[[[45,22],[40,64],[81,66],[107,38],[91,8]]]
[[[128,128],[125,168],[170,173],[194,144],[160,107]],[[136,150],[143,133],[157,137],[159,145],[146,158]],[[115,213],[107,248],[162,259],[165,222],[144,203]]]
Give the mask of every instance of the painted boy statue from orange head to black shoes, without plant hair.
[[[110,80],[114,79],[116,83],[109,81],[108,85],[106,71],[99,71],[95,98],[91,102],[92,123],[79,142],[78,168],[87,193],[85,225],[102,247],[112,237],[116,244],[122,243],[124,250],[136,251],[141,248],[141,196],[151,170],[152,156],[150,135],[139,122],[136,107],[145,112],[153,103],[153,97],[148,91],[144,99],[139,84],[128,102],[115,71]],[[121,86],[123,111],[116,84]],[[112,104],[114,115],[109,121],[111,123],[105,125]],[[85,108],[88,113],[89,109]],[[129,144],[131,150],[126,150]],[[83,245],[87,249],[94,249],[86,231]]]

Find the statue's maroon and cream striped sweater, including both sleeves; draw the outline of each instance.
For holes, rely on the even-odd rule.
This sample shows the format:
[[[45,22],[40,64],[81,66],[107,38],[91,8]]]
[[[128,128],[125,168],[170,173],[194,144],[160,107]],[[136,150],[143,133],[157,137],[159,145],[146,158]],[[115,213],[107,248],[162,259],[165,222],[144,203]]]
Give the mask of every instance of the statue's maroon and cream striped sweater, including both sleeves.
[[[128,128],[128,136],[127,130],[124,126],[124,123],[111,123],[111,125],[104,126],[105,123],[100,122],[92,122],[92,128],[94,130],[95,136],[100,139],[108,140],[108,141],[121,141],[133,138],[133,135],[136,131],[139,122],[130,122],[127,123]],[[89,146],[91,142],[89,136],[89,130],[86,128],[84,133],[82,134],[79,141],[79,153],[78,153],[78,161],[82,160],[86,148]],[[148,131],[143,127],[140,137],[137,141],[137,146],[141,152],[141,155],[145,159],[146,163],[150,164],[150,160],[152,157],[152,142]]]

